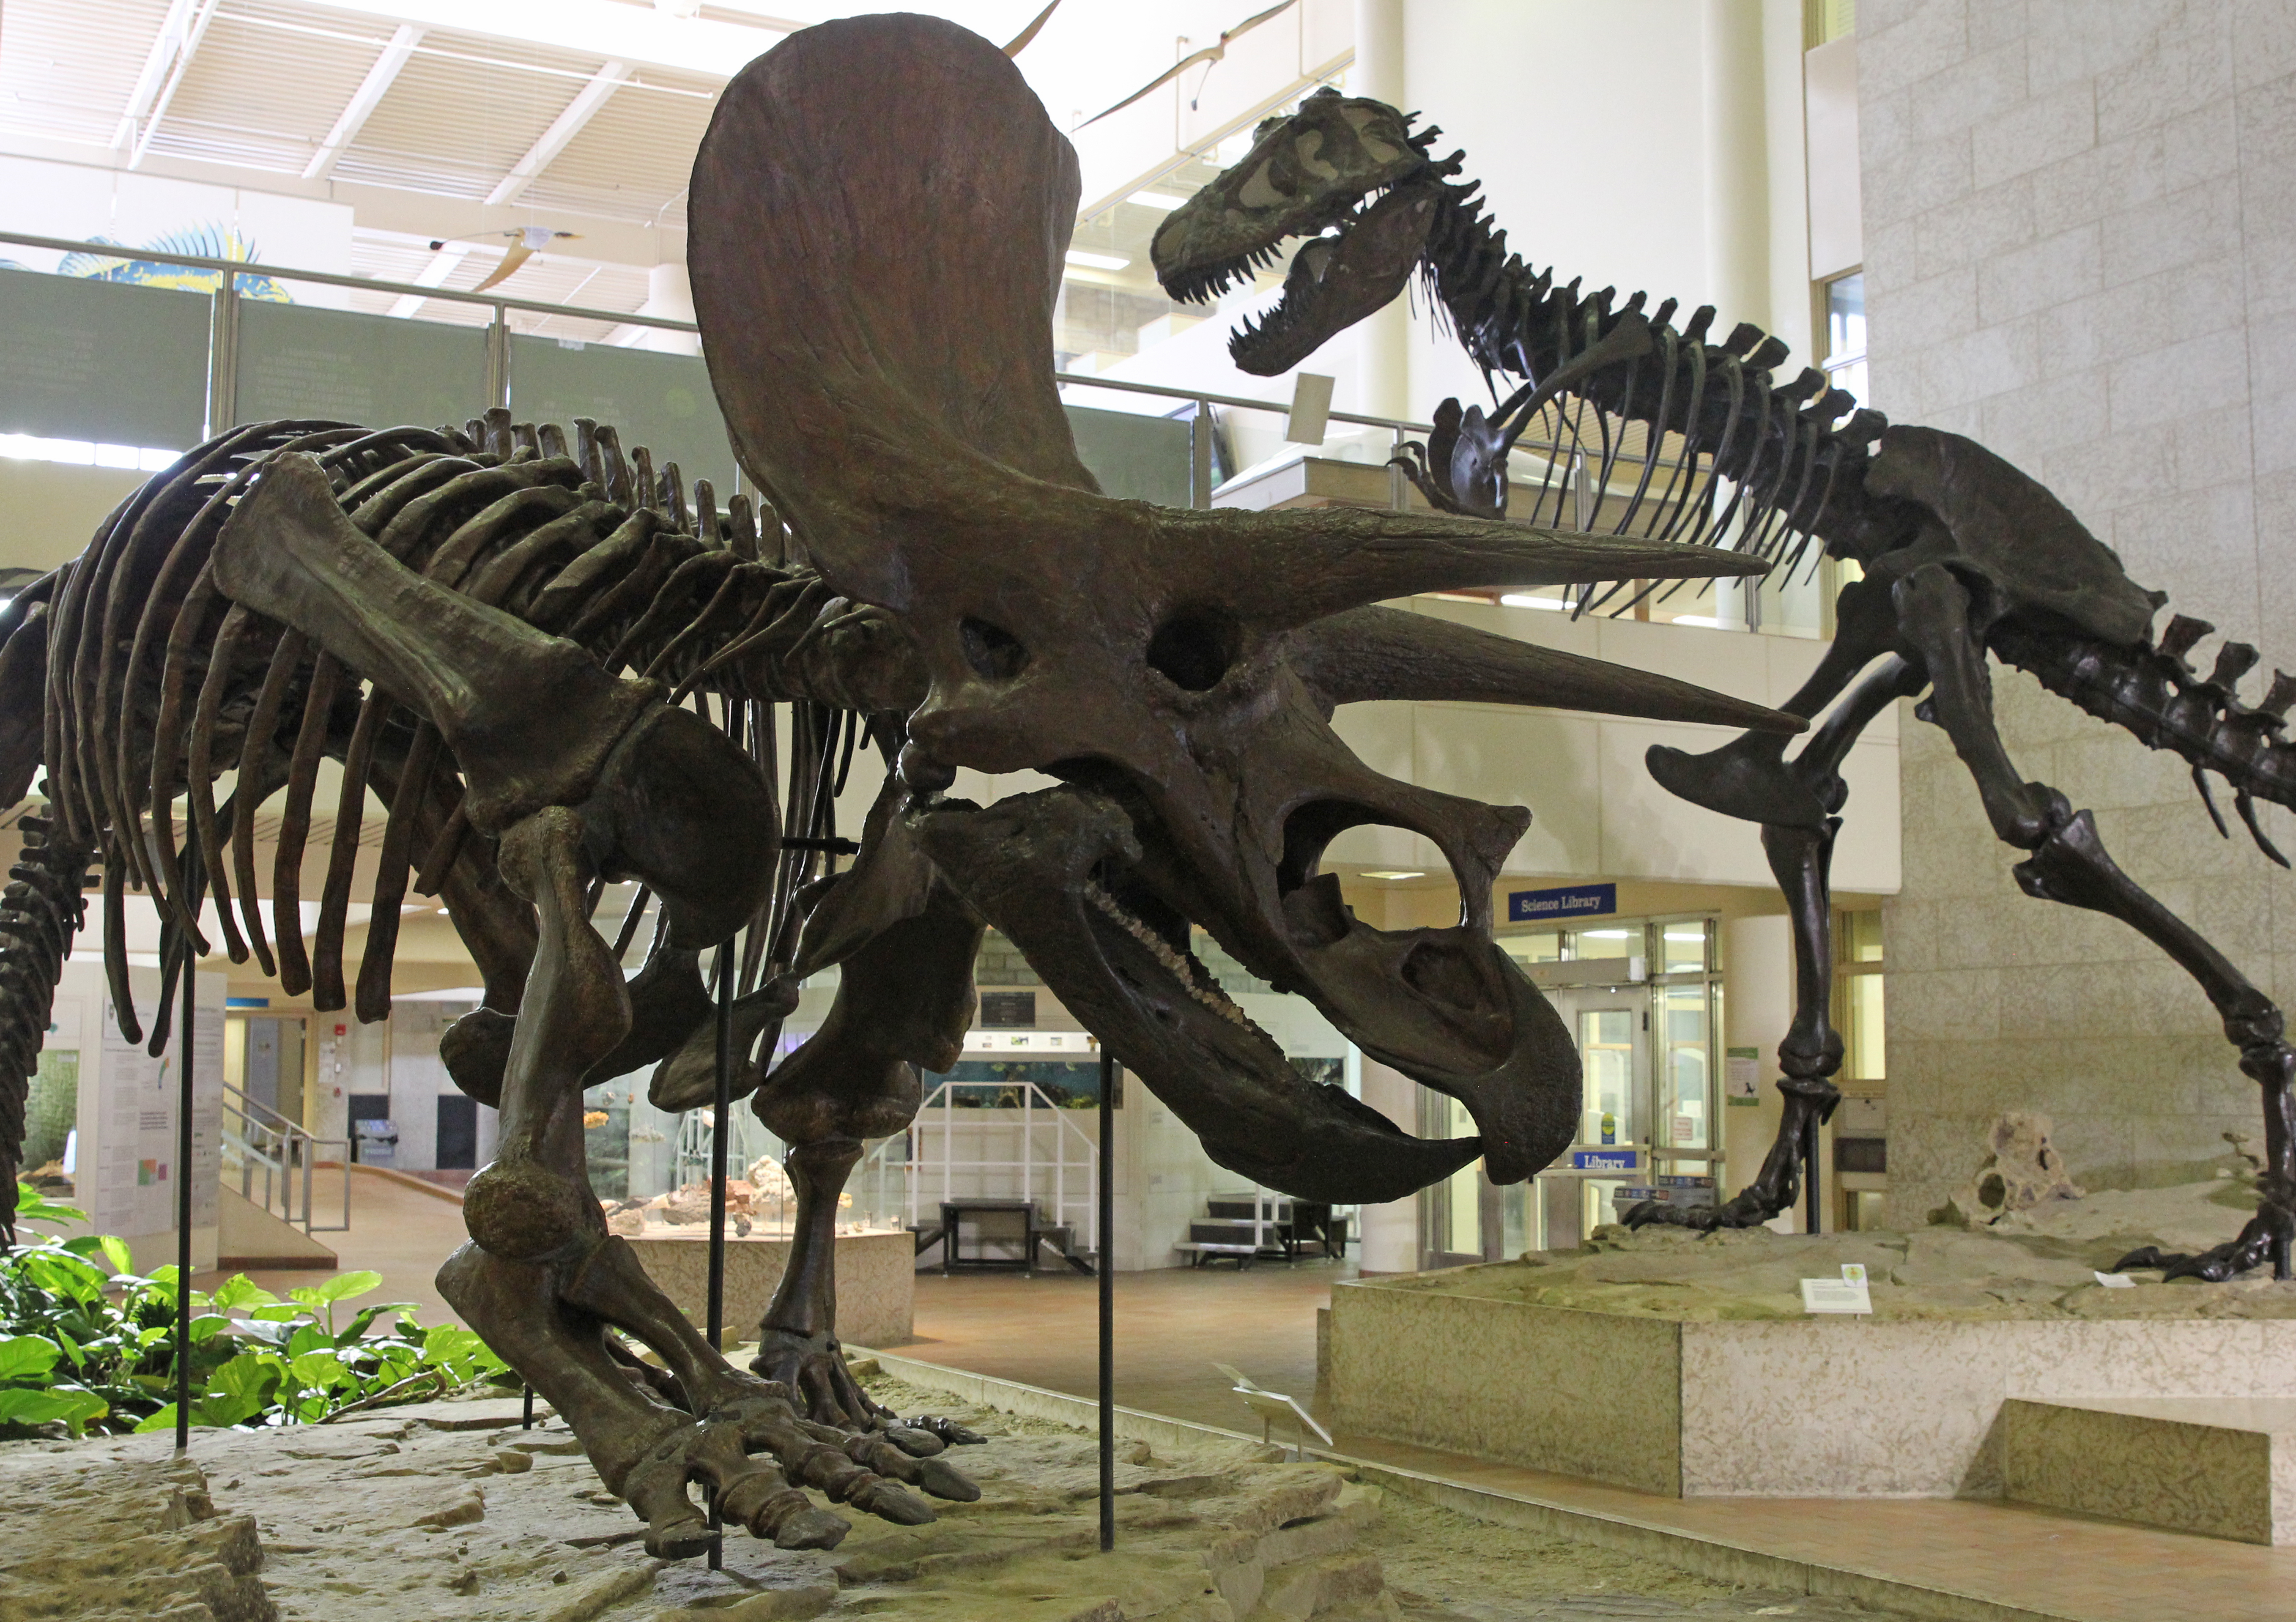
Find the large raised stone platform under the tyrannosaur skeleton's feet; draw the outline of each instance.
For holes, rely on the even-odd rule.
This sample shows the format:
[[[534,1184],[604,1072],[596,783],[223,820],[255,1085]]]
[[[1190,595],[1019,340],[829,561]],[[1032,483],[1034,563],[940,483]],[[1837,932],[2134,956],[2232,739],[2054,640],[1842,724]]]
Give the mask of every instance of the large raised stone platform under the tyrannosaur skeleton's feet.
[[[1575,1252],[1357,1280],[1332,1291],[1327,1395],[1343,1431],[1653,1493],[2002,1496],[2011,1399],[2296,1399],[2296,1284],[2094,1277],[2138,1243],[2229,1238],[2239,1206],[2197,1185],[1981,1231],[1603,1229]],[[1844,1261],[1869,1268],[1874,1314],[1805,1316],[1798,1280]],[[2177,1491],[2151,1475],[2131,1503]]]

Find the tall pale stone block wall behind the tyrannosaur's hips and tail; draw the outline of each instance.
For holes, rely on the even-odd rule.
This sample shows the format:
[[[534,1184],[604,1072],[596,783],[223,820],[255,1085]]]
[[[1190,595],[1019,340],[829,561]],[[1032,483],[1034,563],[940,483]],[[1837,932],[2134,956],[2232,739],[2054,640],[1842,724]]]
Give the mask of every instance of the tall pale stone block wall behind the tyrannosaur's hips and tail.
[[[2296,7],[1862,0],[1857,30],[1874,404],[1981,439],[2174,609],[2296,669]],[[2092,806],[2264,990],[2296,988],[2296,880],[2216,836],[2174,756],[2016,671],[1995,698],[2027,779]],[[1940,1204],[2002,1110],[2053,1114],[2092,1188],[2259,1133],[2195,983],[2027,901],[1942,733],[1906,715],[1901,760],[1892,1220]],[[2287,813],[2266,829],[2296,848]]]

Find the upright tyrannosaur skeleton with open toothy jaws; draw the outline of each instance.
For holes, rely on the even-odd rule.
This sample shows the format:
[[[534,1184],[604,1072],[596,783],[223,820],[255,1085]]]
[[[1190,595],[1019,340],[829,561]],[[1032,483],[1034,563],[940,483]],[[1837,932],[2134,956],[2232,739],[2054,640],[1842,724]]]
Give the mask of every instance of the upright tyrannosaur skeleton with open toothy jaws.
[[[2030,852],[2025,894],[2122,919],[2167,951],[2209,995],[2225,1038],[2264,1089],[2264,1204],[2227,1245],[2200,1257],[2140,1252],[2126,1266],[2211,1280],[2273,1264],[2289,1277],[2296,1241],[2296,1052],[2280,1009],[2188,924],[2144,894],[2105,852],[2087,811],[2027,783],[1993,726],[1986,655],[2037,675],[2082,710],[2172,749],[2234,788],[2257,845],[2287,866],[2257,825],[2255,802],[2296,804],[2296,749],[2282,737],[2296,680],[2275,675],[2259,708],[2239,698],[2257,650],[2225,643],[2209,675],[2186,652],[2213,627],[2151,620],[2165,597],[2135,586],[2110,547],[2048,489],[1984,446],[1929,427],[1892,427],[1857,409],[1823,372],[1775,381],[1786,345],[1740,324],[1706,342],[1713,308],[1676,331],[1674,301],[1644,312],[1644,294],[1580,296],[1506,253],[1465,154],[1430,156],[1437,129],[1417,115],[1336,92],[1267,119],[1251,152],[1157,230],[1166,292],[1201,299],[1228,287],[1288,237],[1311,237],[1281,303],[1231,340],[1244,370],[1281,372],[1334,333],[1426,280],[1430,303],[1490,377],[1525,379],[1490,416],[1446,400],[1414,446],[1410,476],[1449,512],[1508,508],[1508,450],[1538,420],[1559,441],[1531,496],[1531,522],[1564,512],[1570,469],[1593,469],[1591,501],[1614,535],[1715,540],[1791,570],[1809,540],[1862,565],[1839,595],[1837,636],[1786,710],[1816,719],[1807,747],[1784,758],[1782,735],[1745,735],[1713,754],[1651,749],[1651,774],[1701,806],[1761,825],[1763,850],[1793,912],[1795,1018],[1779,1045],[1784,1123],[1761,1174],[1720,1208],[1646,1204],[1630,1220],[1763,1222],[1793,1204],[1798,1153],[1814,1153],[1832,1114],[1841,1038],[1830,1020],[1832,947],[1828,864],[1848,788],[1841,760],[1860,731],[1899,696],[1926,689],[1917,715],[1947,731],[1995,834]],[[1642,471],[1621,473],[1628,441]],[[1559,478],[1557,478],[1559,473]],[[1727,494],[1724,494],[1727,492]],[[1649,588],[1646,588],[1649,590]],[[1671,588],[1669,588],[1671,590]],[[1582,590],[1577,607],[1607,597]],[[1869,669],[1871,666],[1871,669]],[[1853,685],[1855,682],[1855,685]],[[1846,692],[1846,696],[1844,696]],[[2225,820],[2209,800],[2218,832]]]

